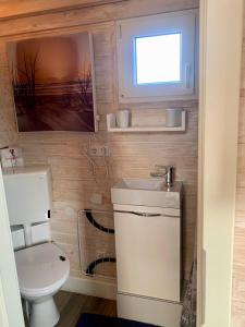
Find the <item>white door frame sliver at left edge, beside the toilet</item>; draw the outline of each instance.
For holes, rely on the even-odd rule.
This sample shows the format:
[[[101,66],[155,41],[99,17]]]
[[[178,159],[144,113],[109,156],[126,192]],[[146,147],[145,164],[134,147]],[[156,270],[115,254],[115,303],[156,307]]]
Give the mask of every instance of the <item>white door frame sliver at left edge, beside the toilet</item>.
[[[0,167],[0,326],[24,327],[22,302]]]

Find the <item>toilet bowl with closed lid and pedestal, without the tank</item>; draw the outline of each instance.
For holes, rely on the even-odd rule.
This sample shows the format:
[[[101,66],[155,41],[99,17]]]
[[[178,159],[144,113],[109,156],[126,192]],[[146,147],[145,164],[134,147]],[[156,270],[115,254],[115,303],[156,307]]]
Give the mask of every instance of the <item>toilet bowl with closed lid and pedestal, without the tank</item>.
[[[56,326],[60,315],[53,295],[69,278],[69,258],[49,242],[16,251],[15,262],[21,295],[29,304],[29,326]]]

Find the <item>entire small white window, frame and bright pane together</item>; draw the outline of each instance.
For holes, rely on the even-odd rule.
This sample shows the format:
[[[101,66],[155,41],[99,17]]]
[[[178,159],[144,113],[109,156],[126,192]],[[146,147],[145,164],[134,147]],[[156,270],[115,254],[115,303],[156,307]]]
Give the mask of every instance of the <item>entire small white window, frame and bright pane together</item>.
[[[196,11],[118,23],[121,102],[193,98]]]

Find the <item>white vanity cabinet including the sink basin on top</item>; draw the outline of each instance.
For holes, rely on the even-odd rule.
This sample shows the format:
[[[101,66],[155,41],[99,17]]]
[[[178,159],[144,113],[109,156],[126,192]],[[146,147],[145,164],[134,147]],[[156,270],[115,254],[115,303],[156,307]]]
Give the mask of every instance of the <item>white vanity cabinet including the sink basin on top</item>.
[[[118,315],[180,327],[182,183],[123,179],[112,190]]]

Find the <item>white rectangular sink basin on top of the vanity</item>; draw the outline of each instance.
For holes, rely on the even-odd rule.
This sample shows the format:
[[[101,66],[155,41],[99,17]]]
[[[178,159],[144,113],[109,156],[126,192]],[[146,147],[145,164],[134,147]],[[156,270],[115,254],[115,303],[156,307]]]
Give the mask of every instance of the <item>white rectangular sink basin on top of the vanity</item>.
[[[163,208],[181,207],[182,182],[168,190],[161,179],[122,179],[111,189],[113,204]]]

